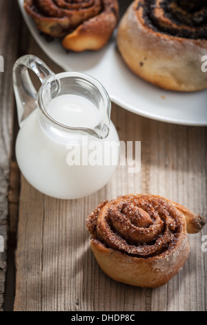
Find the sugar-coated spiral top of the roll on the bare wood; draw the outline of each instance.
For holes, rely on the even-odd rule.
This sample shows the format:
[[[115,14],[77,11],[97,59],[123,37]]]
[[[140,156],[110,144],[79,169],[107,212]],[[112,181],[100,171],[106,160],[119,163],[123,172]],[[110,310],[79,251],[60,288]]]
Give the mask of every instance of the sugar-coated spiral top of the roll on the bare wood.
[[[101,203],[88,216],[87,226],[106,247],[143,258],[172,250],[186,233],[186,221],[175,205],[147,194]]]

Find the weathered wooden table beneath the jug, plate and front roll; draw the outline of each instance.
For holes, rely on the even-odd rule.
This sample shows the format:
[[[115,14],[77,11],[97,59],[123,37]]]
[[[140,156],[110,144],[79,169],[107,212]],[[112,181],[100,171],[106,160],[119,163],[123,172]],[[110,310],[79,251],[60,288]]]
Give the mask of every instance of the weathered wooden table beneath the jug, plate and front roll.
[[[45,196],[21,176],[15,163],[18,131],[12,66],[32,53],[61,71],[32,39],[16,1],[2,1],[0,55],[0,307],[2,310],[207,310],[207,252],[201,233],[189,235],[190,258],[166,286],[119,284],[100,270],[90,250],[86,216],[119,194],[166,196],[206,217],[207,129],[148,120],[112,105],[120,140],[141,141],[141,171],[119,166],[99,192],[78,200]],[[13,8],[11,10],[11,8]],[[21,187],[20,187],[21,185]]]

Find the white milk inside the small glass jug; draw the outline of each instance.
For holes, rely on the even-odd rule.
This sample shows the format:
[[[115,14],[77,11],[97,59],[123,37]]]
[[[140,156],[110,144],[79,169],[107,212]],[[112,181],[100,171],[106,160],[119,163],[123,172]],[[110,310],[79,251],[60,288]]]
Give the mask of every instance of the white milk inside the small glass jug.
[[[95,127],[98,115],[95,107],[87,100],[75,95],[62,95],[48,106],[52,118],[71,127]],[[70,135],[70,133],[69,133]],[[88,142],[71,143],[77,152],[88,149]],[[104,145],[105,141],[119,141],[114,125],[110,124],[109,136],[104,140],[90,137]],[[70,138],[69,138],[70,147]],[[35,109],[26,118],[19,130],[16,142],[17,163],[28,182],[44,194],[56,198],[80,198],[97,191],[110,180],[116,165],[68,165],[71,151],[66,142],[49,135],[39,121],[39,111]],[[112,151],[112,155],[115,152]],[[118,164],[119,157],[117,159]]]

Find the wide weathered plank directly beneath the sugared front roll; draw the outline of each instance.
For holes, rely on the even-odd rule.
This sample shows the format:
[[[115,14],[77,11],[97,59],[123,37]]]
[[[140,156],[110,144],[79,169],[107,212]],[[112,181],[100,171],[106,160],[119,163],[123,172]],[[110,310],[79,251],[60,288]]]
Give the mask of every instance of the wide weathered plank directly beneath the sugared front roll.
[[[141,140],[141,171],[119,166],[110,183],[79,200],[44,196],[21,183],[14,310],[207,310],[206,253],[190,235],[190,259],[166,286],[112,281],[90,250],[86,216],[130,192],[166,196],[206,216],[206,128],[148,120],[112,107],[121,140]],[[206,230],[204,230],[205,232]]]

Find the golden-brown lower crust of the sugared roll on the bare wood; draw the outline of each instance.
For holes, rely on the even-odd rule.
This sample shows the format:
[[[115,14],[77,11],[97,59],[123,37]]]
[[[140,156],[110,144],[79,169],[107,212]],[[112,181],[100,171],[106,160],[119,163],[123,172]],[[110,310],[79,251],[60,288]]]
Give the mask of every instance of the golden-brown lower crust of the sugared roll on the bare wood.
[[[179,272],[189,255],[186,237],[176,250],[162,254],[163,256],[148,257],[147,260],[106,248],[95,239],[90,240],[90,245],[97,263],[106,275],[115,281],[142,288],[164,286]]]

